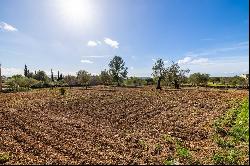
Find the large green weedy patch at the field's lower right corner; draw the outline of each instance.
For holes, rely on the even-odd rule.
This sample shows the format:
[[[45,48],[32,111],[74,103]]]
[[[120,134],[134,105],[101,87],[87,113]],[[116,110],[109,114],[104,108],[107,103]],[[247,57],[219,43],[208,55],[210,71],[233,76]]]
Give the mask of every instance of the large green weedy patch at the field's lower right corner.
[[[213,155],[215,164],[247,164],[249,153],[249,102],[229,110],[214,123],[214,141],[219,150]]]

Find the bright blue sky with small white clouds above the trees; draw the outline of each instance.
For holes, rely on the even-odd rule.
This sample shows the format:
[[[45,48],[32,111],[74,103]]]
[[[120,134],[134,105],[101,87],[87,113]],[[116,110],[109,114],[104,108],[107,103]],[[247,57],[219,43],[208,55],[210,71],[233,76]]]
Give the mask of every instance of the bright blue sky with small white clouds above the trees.
[[[99,74],[114,55],[129,76],[158,58],[191,73],[249,72],[248,0],[1,0],[4,75],[83,69]]]

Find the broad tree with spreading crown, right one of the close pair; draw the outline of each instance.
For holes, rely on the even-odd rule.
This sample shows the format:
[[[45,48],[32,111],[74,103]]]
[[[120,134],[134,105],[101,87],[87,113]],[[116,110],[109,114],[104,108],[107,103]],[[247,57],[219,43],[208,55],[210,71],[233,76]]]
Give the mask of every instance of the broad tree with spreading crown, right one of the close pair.
[[[180,84],[185,78],[185,74],[189,73],[189,71],[189,69],[180,69],[178,63],[172,62],[172,65],[165,70],[166,81],[174,85],[175,89],[179,89]]]

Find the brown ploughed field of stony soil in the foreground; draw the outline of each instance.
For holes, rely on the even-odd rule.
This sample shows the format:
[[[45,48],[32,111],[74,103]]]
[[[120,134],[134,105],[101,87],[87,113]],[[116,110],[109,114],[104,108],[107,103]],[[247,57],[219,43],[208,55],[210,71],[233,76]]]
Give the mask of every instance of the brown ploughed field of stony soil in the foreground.
[[[214,120],[246,96],[100,87],[2,93],[0,153],[10,154],[6,164],[211,164]]]

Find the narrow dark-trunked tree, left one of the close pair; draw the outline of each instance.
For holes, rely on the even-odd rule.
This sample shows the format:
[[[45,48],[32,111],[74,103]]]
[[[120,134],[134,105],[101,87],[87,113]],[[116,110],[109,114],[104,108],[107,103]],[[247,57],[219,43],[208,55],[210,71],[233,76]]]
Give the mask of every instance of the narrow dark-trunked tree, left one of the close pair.
[[[165,74],[165,68],[164,68],[164,62],[162,59],[158,59],[153,68],[153,77],[157,79],[157,87],[156,89],[161,89],[161,80],[164,79],[164,74]]]

